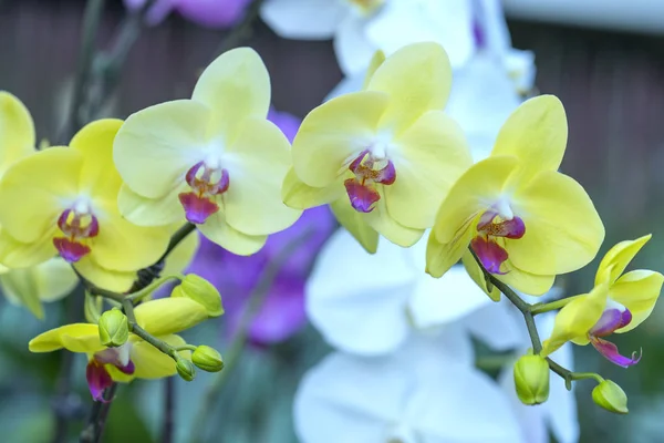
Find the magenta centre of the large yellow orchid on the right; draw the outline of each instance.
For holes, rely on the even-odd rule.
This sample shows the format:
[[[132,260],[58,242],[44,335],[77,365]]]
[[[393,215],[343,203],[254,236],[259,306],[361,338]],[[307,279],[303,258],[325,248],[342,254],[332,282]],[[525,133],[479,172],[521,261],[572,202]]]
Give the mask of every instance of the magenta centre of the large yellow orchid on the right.
[[[509,206],[501,206],[486,210],[479,217],[477,236],[470,240],[470,247],[485,269],[498,275],[506,274],[500,267],[509,258],[505,239],[519,239],[526,234],[523,220],[513,215]]]

